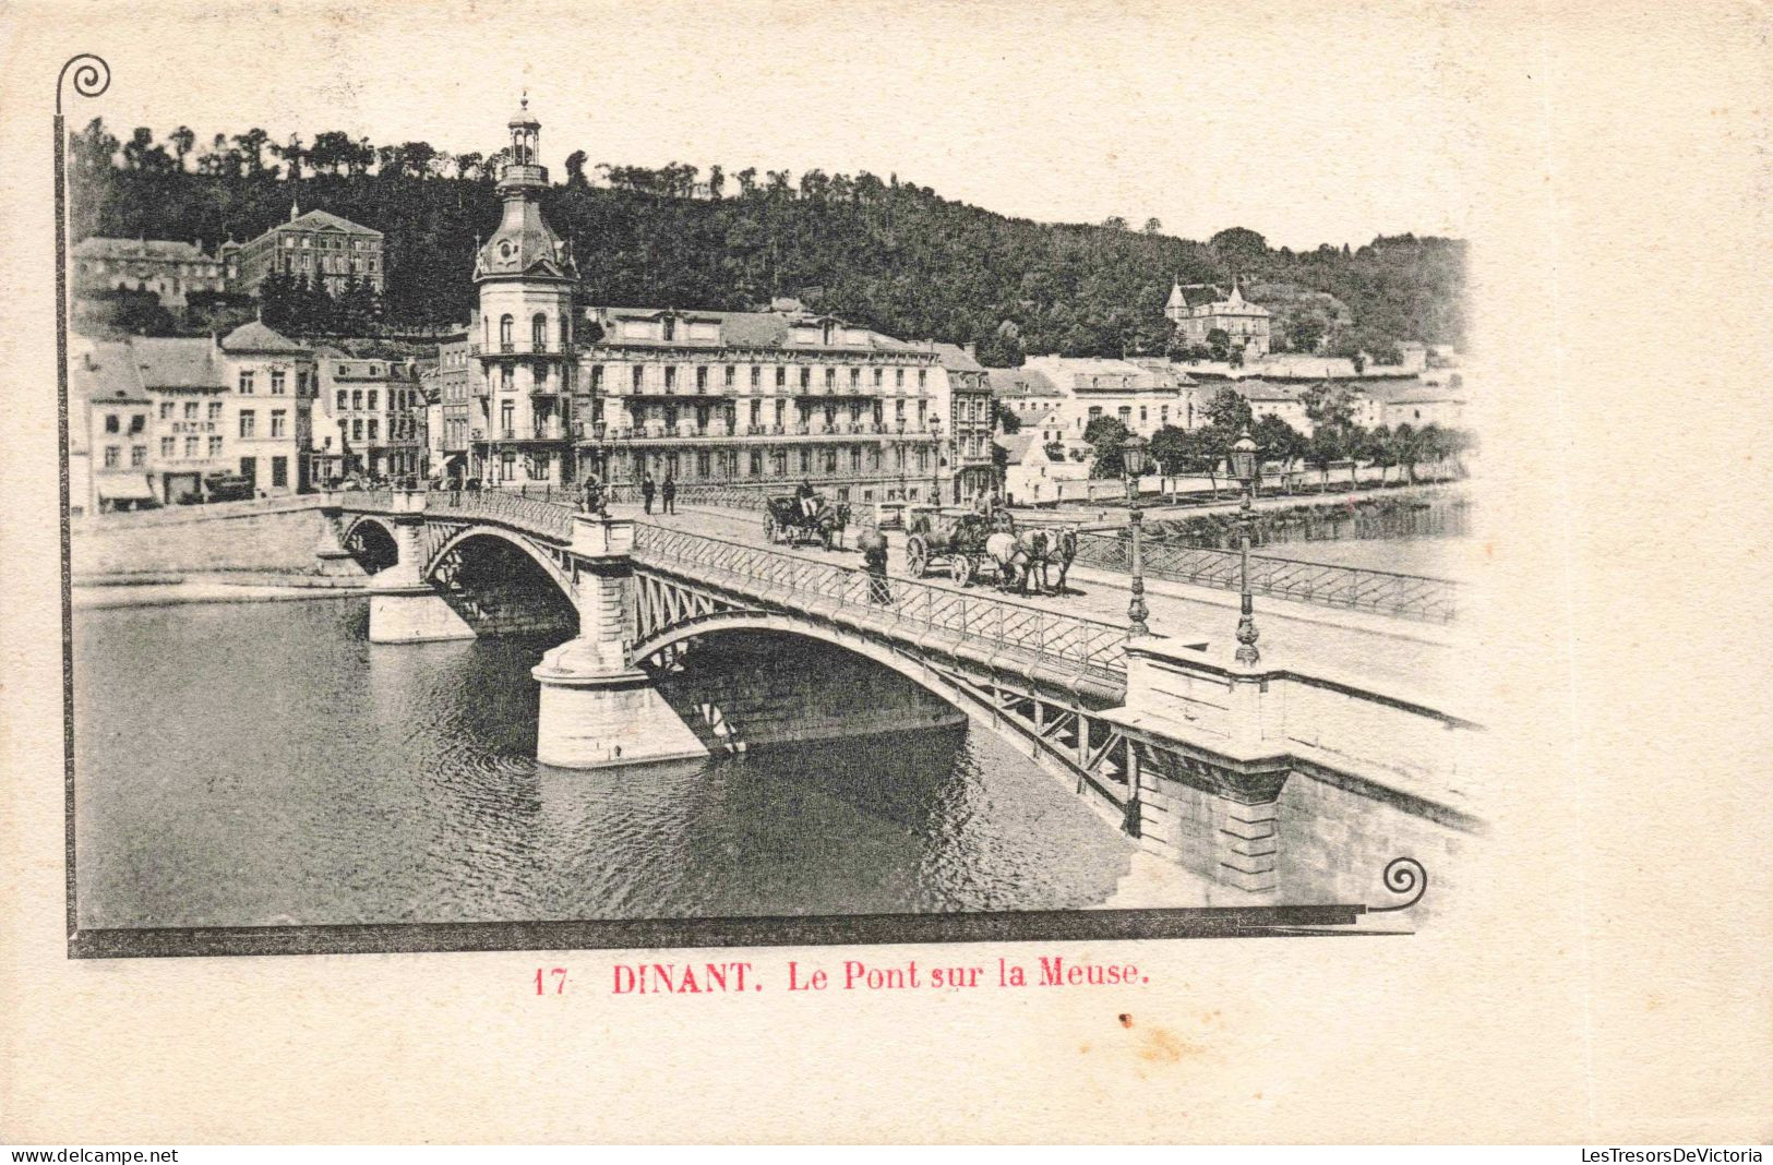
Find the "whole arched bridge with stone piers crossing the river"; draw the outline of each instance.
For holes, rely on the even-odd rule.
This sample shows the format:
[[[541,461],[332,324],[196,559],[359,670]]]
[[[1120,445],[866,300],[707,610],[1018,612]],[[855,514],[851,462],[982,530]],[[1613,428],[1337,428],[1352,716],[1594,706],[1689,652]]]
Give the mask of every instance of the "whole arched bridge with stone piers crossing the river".
[[[1480,830],[1461,784],[1475,723],[1347,681],[1243,669],[1211,637],[1129,640],[996,596],[509,493],[360,491],[326,507],[340,546],[323,548],[323,567],[355,557],[374,571],[378,644],[514,626],[479,621],[465,582],[477,564],[546,580],[569,638],[532,672],[544,764],[706,755],[652,681],[693,640],[745,631],[817,638],[910,677],[1227,901],[1305,881],[1365,901],[1388,858],[1438,865]]]

